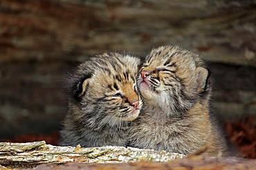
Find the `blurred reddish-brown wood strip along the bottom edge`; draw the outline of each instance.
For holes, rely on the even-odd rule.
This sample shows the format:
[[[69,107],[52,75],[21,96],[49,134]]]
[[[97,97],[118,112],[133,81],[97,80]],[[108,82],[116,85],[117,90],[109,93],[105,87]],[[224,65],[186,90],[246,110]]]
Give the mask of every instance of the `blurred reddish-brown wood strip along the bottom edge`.
[[[42,164],[35,167],[34,170],[69,170],[69,169],[88,169],[88,170],[221,170],[221,169],[256,169],[256,160],[239,160],[236,158],[201,158],[195,156],[193,158],[185,158],[172,162],[156,163],[156,162],[134,162],[127,164],[84,164],[84,163],[68,163],[63,165]]]

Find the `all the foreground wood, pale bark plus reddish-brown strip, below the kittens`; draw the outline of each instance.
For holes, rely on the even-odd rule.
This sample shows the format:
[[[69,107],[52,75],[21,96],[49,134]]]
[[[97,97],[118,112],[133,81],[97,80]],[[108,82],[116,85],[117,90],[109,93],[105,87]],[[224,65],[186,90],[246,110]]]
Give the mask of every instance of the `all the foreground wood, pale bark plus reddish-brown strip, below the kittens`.
[[[29,167],[35,167],[33,169],[255,169],[256,160],[194,155],[185,157],[178,153],[129,147],[56,147],[46,145],[44,141],[0,142],[1,169]]]

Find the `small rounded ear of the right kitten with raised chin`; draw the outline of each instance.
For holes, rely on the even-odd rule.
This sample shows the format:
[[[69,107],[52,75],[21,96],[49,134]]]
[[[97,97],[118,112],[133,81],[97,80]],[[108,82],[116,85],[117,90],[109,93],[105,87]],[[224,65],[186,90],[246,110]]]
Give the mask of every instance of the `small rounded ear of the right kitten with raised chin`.
[[[196,68],[197,92],[200,94],[208,88],[210,72],[204,67]]]

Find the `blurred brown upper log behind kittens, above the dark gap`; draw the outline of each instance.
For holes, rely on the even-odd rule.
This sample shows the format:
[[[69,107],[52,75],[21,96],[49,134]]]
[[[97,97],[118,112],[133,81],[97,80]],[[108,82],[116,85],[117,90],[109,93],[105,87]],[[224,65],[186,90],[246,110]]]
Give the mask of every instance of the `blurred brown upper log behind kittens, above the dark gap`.
[[[256,65],[255,1],[1,0],[0,61],[179,44],[208,61]]]

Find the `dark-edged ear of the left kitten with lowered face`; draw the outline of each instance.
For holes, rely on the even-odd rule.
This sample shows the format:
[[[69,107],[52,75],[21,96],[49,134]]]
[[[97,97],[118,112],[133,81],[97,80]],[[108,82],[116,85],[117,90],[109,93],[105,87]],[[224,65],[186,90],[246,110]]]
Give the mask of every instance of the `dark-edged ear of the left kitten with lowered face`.
[[[77,81],[73,86],[73,97],[76,100],[81,100],[82,96],[84,96],[84,94],[86,93],[89,87],[89,80],[91,76],[92,74],[84,75],[84,77],[80,78],[80,80]]]

